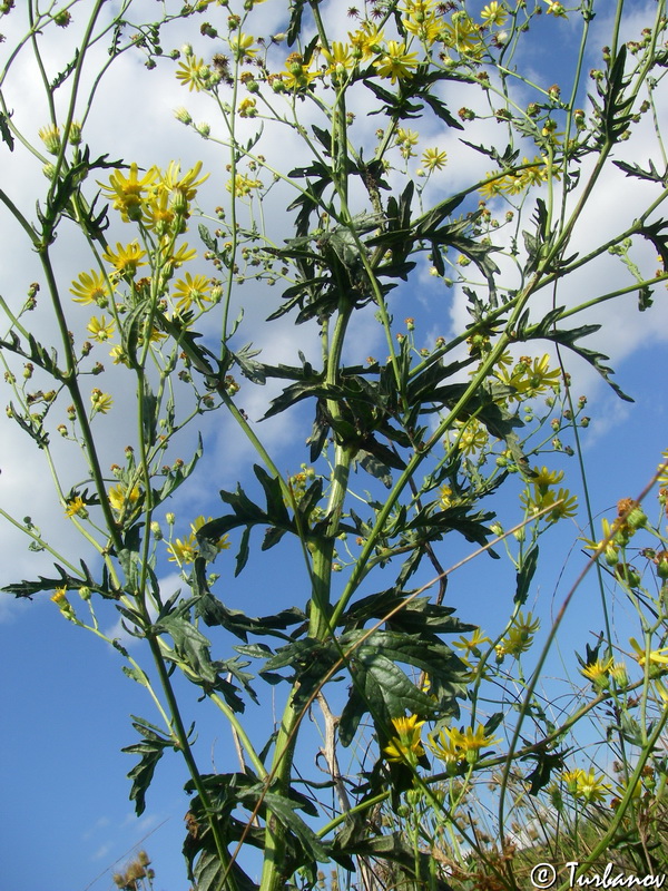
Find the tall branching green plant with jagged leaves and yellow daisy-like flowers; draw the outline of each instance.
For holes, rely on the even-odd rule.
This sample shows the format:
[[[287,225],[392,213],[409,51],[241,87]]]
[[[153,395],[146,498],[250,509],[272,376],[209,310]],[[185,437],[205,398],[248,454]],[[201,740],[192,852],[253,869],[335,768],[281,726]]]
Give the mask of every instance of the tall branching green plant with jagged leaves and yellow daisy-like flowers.
[[[3,12],[17,16],[11,6]],[[32,153],[45,165],[46,185],[35,215],[8,190],[0,189],[0,202],[32,246],[40,281],[21,305],[2,300],[1,359],[8,414],[41,451],[87,551],[85,560],[60,554],[32,520],[2,510],[31,547],[57,560],[55,576],[4,590],[17,597],[51,591],[65,618],[111,643],[126,674],[146,688],[157,717],[132,718],[139,741],[125,751],[139,760],[129,774],[130,797],[141,813],[160,758],[168,751],[184,758],[191,796],[184,851],[202,891],[255,887],[240,856],[247,849],[261,852],[263,891],[313,887],[322,881],[318,864],[332,861],[343,873],[357,871],[367,887],[482,887],[484,879],[491,888],[514,888],[527,851],[518,853],[509,820],[523,813],[539,820],[551,807],[559,820],[573,821],[563,850],[580,839],[579,814],[587,826],[598,825],[593,805],[607,794],[605,780],[591,767],[569,767],[566,741],[601,708],[612,709],[611,738],[631,784],[615,815],[601,817],[602,839],[635,834],[640,846],[627,844],[625,855],[638,869],[655,869],[655,845],[640,840],[640,826],[664,820],[666,765],[656,745],[668,711],[652,670],[661,673],[666,663],[666,604],[662,586],[660,595],[639,593],[630,561],[619,555],[627,544],[619,537],[639,523],[636,502],[622,507],[617,525],[590,548],[608,562],[613,554],[616,578],[640,617],[642,679],[615,677],[620,669],[608,627],[583,660],[595,695],[556,719],[539,682],[560,617],[537,663],[527,667],[523,656],[539,629],[525,605],[540,540],[576,511],[576,498],[560,486],[564,471],[544,456],[577,450],[581,457],[589,423],[586,400],[571,393],[568,356],[583,359],[626,399],[607,356],[587,345],[598,330],[587,314],[629,294],[646,311],[667,277],[659,161],[645,168],[613,159],[654,115],[657,157],[665,163],[655,98],[666,63],[662,4],[630,42],[622,40],[623,3],[617,4],[601,68],[589,81],[583,67],[592,0],[569,10],[522,0],[482,10],[433,0],[365,3],[351,16],[347,41],[335,39],[336,8],[316,0],[286,7],[284,35],[256,37],[257,6],[191,3],[137,25],[129,18],[131,0],[119,11],[98,0],[77,52],[50,78],[42,35],[69,27],[69,10],[81,7],[40,11],[28,0],[27,35],[1,75],[0,127],[7,150]],[[210,20],[200,18],[205,12]],[[521,50],[546,12],[570,16],[580,33],[561,88],[521,72]],[[207,60],[208,48],[190,43],[164,52],[169,28],[178,22],[185,29],[190,19],[199,39],[222,41],[225,55]],[[89,51],[101,41],[109,57],[91,70]],[[41,145],[17,125],[8,99],[16,60],[27,50],[49,110]],[[177,81],[210,100],[216,125],[196,124],[187,108],[176,114],[225,153],[225,206],[210,206],[200,163],[187,170],[176,161],[141,167],[96,157],[87,144],[99,79],[130,51],[143,52],[149,69],[170,57]],[[453,85],[470,102],[459,112],[449,104]],[[373,115],[374,137],[360,123],[364,114]],[[465,138],[479,120],[498,126],[494,145]],[[439,173],[448,153],[426,136],[436,125],[448,135],[462,131],[461,169],[481,155],[494,169],[446,188]],[[281,166],[271,151],[275,133],[298,144],[306,160]],[[651,197],[640,215],[620,213],[612,235],[582,249],[589,204],[612,164],[650,184]],[[276,204],[281,228],[293,226],[287,238],[276,233]],[[89,261],[66,296],[69,283],[55,257],[56,235],[69,228]],[[207,267],[197,265],[195,228]],[[659,254],[658,273],[654,261],[649,267],[641,252],[633,253],[645,243]],[[567,283],[600,262],[619,262],[610,255],[623,264],[628,284],[567,302]],[[465,296],[469,317],[448,340],[430,342],[422,333],[433,324],[415,297],[428,290],[426,277],[442,293],[454,288]],[[307,355],[291,343],[272,363],[245,343],[244,311],[250,314],[252,301],[238,295],[252,283],[276,295],[271,303],[267,296],[269,326],[294,321],[317,350]],[[395,321],[399,310],[415,305],[403,323]],[[52,342],[31,334],[32,312],[48,314]],[[360,350],[354,334],[362,324],[382,331],[383,359]],[[112,369],[99,359],[109,346]],[[244,410],[247,394],[266,384],[272,398],[264,418],[291,419],[297,472],[282,470]],[[115,392],[135,394],[136,419],[134,432],[128,428],[132,442],[109,473],[104,422],[115,411]],[[196,480],[202,439],[189,460],[177,456],[188,430],[213,412],[236,424],[257,463],[253,477],[220,491],[218,516],[184,522],[171,499]],[[63,454],[82,456],[84,467]],[[521,480],[515,489],[523,515],[514,526],[499,501],[513,480]],[[229,564],[213,566],[234,545],[239,576],[258,528],[261,551],[294,539],[288,554],[298,578],[294,603],[259,616],[259,608],[245,613],[226,604]],[[662,535],[659,526],[655,535]],[[441,542],[458,536],[469,554],[444,565]],[[446,581],[472,556],[495,557],[503,548],[515,590],[508,620],[491,639],[475,608],[464,620],[453,615]],[[660,575],[664,558],[652,561]],[[169,562],[180,572],[180,590],[160,584]],[[98,616],[105,603],[143,642],[140,649],[105,634]],[[229,763],[208,773],[203,766],[175,673],[228,722],[238,768]],[[336,684],[344,677],[345,693]],[[257,742],[244,708],[266,695],[266,685],[284,691],[283,712]],[[636,691],[631,707],[625,697]],[[318,780],[295,770],[311,744],[304,725],[316,703],[327,801]],[[355,775],[342,775],[340,746],[355,751],[362,740],[367,754]],[[499,754],[490,751],[500,744]],[[648,764],[660,795],[651,792],[644,811],[633,803],[632,784]],[[490,823],[495,844],[470,822],[484,782],[499,792]],[[558,806],[563,784],[573,801]],[[484,796],[479,801],[488,806]],[[554,833],[546,829],[541,840],[550,851],[557,851]],[[601,845],[583,844],[582,869],[598,862]]]

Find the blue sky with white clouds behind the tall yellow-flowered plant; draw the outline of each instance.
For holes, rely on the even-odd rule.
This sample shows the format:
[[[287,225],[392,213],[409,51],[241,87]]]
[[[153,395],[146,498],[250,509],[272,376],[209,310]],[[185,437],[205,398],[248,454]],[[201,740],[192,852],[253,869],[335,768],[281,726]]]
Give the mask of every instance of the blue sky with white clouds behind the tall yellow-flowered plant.
[[[150,3],[144,3],[150,8]],[[325,4],[330,12],[334,2]],[[479,4],[481,6],[481,4]],[[629,31],[635,29],[646,10],[654,13],[655,3],[635,2],[628,4]],[[597,28],[605,27],[606,4]],[[77,7],[73,9],[77,17]],[[263,7],[267,31],[277,32],[285,27],[285,3],[269,0]],[[17,10],[19,16],[21,10]],[[81,17],[82,18],[82,17]],[[543,17],[541,28],[532,51],[524,59],[539,82],[549,85],[562,75],[568,63],[568,55],[554,52],[554,33],[563,48],[572,46],[572,23],[554,22]],[[193,40],[197,39],[197,25],[193,25]],[[4,27],[7,25],[7,27]],[[186,23],[188,25],[188,23]],[[342,36],[348,22],[341,19],[337,26]],[[13,29],[20,30],[16,19],[7,22],[0,19],[0,30],[8,35],[8,42],[16,37]],[[73,32],[76,33],[76,32]],[[59,56],[67,56],[69,32],[59,32],[61,42],[46,43],[47,58],[52,71],[58,71]],[[170,36],[169,47],[179,46],[190,35],[179,30]],[[200,43],[202,46],[202,43]],[[205,45],[200,52],[208,51]],[[212,49],[215,51],[215,48]],[[596,46],[596,42],[592,43]],[[595,65],[592,58],[588,67]],[[37,138],[38,126],[45,114],[40,99],[39,85],[35,71],[28,62],[20,61],[17,81],[8,85],[11,101],[16,101],[17,121]],[[12,92],[13,90],[13,92]],[[461,96],[450,96],[449,101],[456,108],[466,101]],[[95,112],[89,121],[90,140],[94,151],[109,151],[111,157],[137,160],[143,166],[157,163],[166,165],[171,158],[180,158],[184,169],[197,160],[203,160],[205,169],[212,172],[207,186],[202,192],[202,203],[212,206],[226,198],[224,160],[220,149],[213,143],[200,140],[196,134],[187,131],[173,116],[177,105],[187,104],[198,120],[212,117],[213,109],[203,102],[203,97],[187,94],[175,86],[171,63],[165,61],[156,71],[147,72],[136,59],[126,57],[109,76],[98,95]],[[660,107],[666,109],[666,96]],[[360,128],[375,126],[360,116]],[[32,123],[31,123],[32,121]],[[493,124],[481,123],[472,128],[466,138],[472,141],[495,138],[498,129]],[[485,159],[475,157],[471,163],[480,168],[458,169],[452,160],[456,157],[459,134],[455,131],[432,130],[429,138],[438,139],[446,148],[451,165],[434,178],[434,189],[448,194],[461,187],[464,179],[470,180],[485,172]],[[646,158],[650,149],[649,135],[640,130],[636,140],[626,147],[626,157]],[[431,143],[430,143],[431,144]],[[16,151],[3,153],[6,178],[12,187],[12,196],[23,207],[31,207],[35,198],[43,190],[39,178],[39,166]],[[295,163],[296,147],[286,139],[275,146],[277,160],[291,166]],[[46,182],[46,180],[43,180]],[[627,216],[633,207],[641,207],[642,188],[636,182],[623,177],[619,172],[610,174],[597,190],[591,203],[590,215],[586,217],[581,237],[583,243],[592,236],[605,238],[608,231],[617,226],[616,216],[623,212]],[[274,200],[272,198],[272,200]],[[276,209],[278,202],[271,207]],[[35,265],[29,246],[24,244],[18,228],[12,227],[7,216],[2,219],[3,242],[0,245],[0,293],[8,296],[24,292],[24,282],[31,281]],[[281,225],[278,223],[277,225]],[[119,233],[122,237],[122,233]],[[58,274],[65,286],[80,272],[78,244],[70,234],[61,236],[62,247],[58,254]],[[88,263],[88,261],[86,261]],[[86,266],[89,268],[89,266]],[[577,303],[583,295],[605,293],[623,275],[620,266],[605,266],[586,273],[566,293],[560,293],[564,302]],[[626,282],[626,280],[622,280]],[[271,296],[276,300],[278,288]],[[661,451],[668,446],[667,393],[664,386],[666,366],[666,345],[668,340],[668,312],[662,287],[655,294],[655,306],[645,315],[636,310],[636,296],[629,295],[626,303],[606,304],[590,321],[606,323],[605,333],[596,340],[596,345],[611,356],[616,380],[621,388],[635,398],[635,403],[621,403],[615,394],[580,362],[570,363],[579,392],[588,395],[591,427],[583,431],[583,459],[590,487],[595,512],[609,511],[622,497],[633,497],[646,484],[654,472]],[[465,311],[461,292],[448,290],[442,283],[430,278],[426,268],[416,275],[416,284],[396,292],[394,310],[397,319],[412,315],[416,319],[419,334],[430,344],[435,336],[448,336],[465,323]],[[239,301],[246,309],[246,322],[253,340],[264,349],[267,362],[296,361],[296,351],[304,350],[316,355],[316,342],[308,333],[297,331],[296,335],[289,320],[274,326],[263,326],[269,296],[250,284],[239,290]],[[36,333],[46,336],[48,320],[36,315]],[[353,330],[351,361],[353,354],[367,352],[383,354],[385,349],[380,329],[371,313],[356,322]],[[267,389],[268,390],[268,389]],[[244,407],[253,419],[258,418],[266,405],[271,390],[253,392],[249,385],[244,391]],[[246,395],[247,393],[247,395]],[[122,394],[118,403],[124,402]],[[119,419],[121,419],[119,421]],[[101,419],[108,437],[106,451],[109,460],[117,459],[119,451],[131,435],[131,428],[125,425],[122,413]],[[131,421],[128,421],[128,424]],[[40,456],[32,453],[27,441],[14,427],[9,427],[4,417],[0,419],[0,505],[10,512],[23,517],[29,513],[43,529],[55,523],[59,531],[56,542],[66,552],[77,555],[76,540],[70,530],[63,527],[61,509],[50,495],[50,480],[46,474]],[[184,531],[199,513],[216,516],[220,501],[216,491],[230,489],[237,479],[248,479],[249,463],[255,459],[247,443],[238,435],[228,421],[205,418],[205,457],[200,476],[194,486],[175,500],[175,511]],[[307,460],[302,446],[311,428],[306,410],[292,412],[276,421],[258,425],[258,431],[277,456],[278,467],[286,472],[295,472]],[[184,443],[184,458],[193,440]],[[296,444],[295,444],[296,443]],[[61,457],[67,459],[62,451]],[[556,459],[554,464],[564,467],[570,474],[569,486],[580,491],[574,459]],[[360,476],[354,480],[360,489],[369,482]],[[519,484],[509,487],[503,511],[509,522],[520,519],[518,501]],[[249,491],[257,484],[249,483]],[[583,518],[579,521],[583,522]],[[564,521],[542,540],[546,555],[539,575],[532,586],[528,608],[533,608],[543,618],[547,629],[570,584],[580,571],[584,558],[577,542],[580,530],[574,522]],[[27,550],[27,542],[16,530],[2,529],[0,537],[0,584],[9,584],[19,578],[35,577],[38,572],[49,574],[49,560],[45,555]],[[443,545],[440,554],[448,565],[466,552],[468,546]],[[234,550],[220,556],[217,570],[232,575]],[[562,571],[563,570],[563,571]],[[160,567],[164,584],[178,587],[173,567],[164,561]],[[429,572],[422,574],[422,581]],[[295,548],[286,545],[268,555],[254,550],[253,559],[240,579],[226,580],[225,599],[229,606],[247,608],[253,615],[272,613],[291,605],[294,600],[303,603],[305,597],[305,574]],[[383,584],[381,575],[379,587]],[[507,561],[493,562],[482,557],[469,565],[450,581],[448,601],[455,606],[464,620],[478,621],[489,633],[499,631],[509,614],[514,579],[512,568]],[[379,588],[376,588],[379,589]],[[620,621],[623,611],[620,609]],[[115,627],[116,616],[107,609],[102,611],[102,627]],[[105,624],[106,621],[106,624]],[[567,616],[561,644],[561,655],[568,664],[576,685],[573,648],[583,650],[591,643],[591,631],[599,630],[600,606],[593,574],[587,578]],[[629,630],[629,634],[637,628]],[[620,639],[628,638],[626,628],[619,628]],[[216,638],[216,630],[212,631]],[[225,655],[229,642],[220,642]],[[554,660],[554,670],[561,670]],[[155,721],[151,704],[141,687],[132,684],[122,674],[120,660],[111,647],[73,627],[50,603],[47,595],[38,596],[32,603],[16,603],[0,595],[0,672],[3,683],[0,687],[0,708],[4,717],[0,760],[0,789],[2,804],[0,814],[3,825],[3,844],[0,848],[0,873],[2,887],[21,888],[23,891],[101,891],[111,887],[114,864],[122,862],[138,846],[144,846],[154,860],[157,872],[156,888],[159,891],[177,891],[186,887],[185,870],[180,855],[184,836],[183,817],[187,810],[187,796],[183,792],[186,772],[175,756],[167,755],[158,765],[156,782],[148,795],[148,806],[140,819],[134,816],[128,801],[129,782],[126,774],[134,765],[134,756],[121,754],[120,748],[135,742],[130,726],[130,714]],[[206,704],[197,703],[194,694],[185,685],[183,695],[188,703],[191,718],[197,719],[199,733],[198,753],[203,764],[213,770],[233,770],[235,754],[229,731],[216,715],[212,715]],[[281,691],[277,694],[281,695]],[[249,727],[263,738],[267,724],[271,724],[274,704],[273,691],[263,688],[263,706],[248,709]],[[276,708],[278,705],[276,705]],[[118,865],[116,868],[118,868]]]

